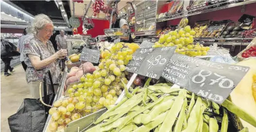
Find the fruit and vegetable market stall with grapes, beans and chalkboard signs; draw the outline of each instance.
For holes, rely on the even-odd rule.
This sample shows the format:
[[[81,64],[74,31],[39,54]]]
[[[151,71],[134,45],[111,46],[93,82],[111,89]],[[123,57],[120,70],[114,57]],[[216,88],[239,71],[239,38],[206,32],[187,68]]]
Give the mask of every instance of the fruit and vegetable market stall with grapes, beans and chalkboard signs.
[[[118,3],[96,0],[93,11]],[[123,7],[119,17],[135,26],[137,43],[118,39],[130,29],[68,38],[67,68],[44,132],[255,132],[256,14],[248,13],[255,2],[134,3],[136,11]],[[195,17],[246,4],[246,16]]]

